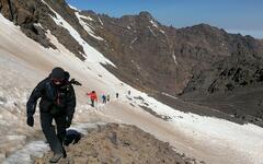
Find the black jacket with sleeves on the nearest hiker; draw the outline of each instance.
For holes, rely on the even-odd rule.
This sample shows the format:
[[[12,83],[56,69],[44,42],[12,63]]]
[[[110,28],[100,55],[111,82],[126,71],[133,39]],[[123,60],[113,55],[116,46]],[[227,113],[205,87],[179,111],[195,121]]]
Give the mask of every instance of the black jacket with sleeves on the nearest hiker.
[[[73,86],[68,81],[60,86],[55,86],[50,78],[46,78],[39,82],[26,104],[27,116],[35,114],[36,103],[39,97],[41,113],[50,113],[55,108],[59,110],[59,114],[66,114],[70,121],[72,120],[76,96]]]

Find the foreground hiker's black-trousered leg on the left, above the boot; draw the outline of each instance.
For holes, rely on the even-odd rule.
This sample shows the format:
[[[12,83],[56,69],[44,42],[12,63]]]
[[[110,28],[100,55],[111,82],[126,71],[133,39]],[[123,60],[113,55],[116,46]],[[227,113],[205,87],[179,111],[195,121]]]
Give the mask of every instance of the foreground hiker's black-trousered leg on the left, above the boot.
[[[47,142],[49,143],[49,147],[52,151],[55,154],[62,153],[62,147],[60,144],[60,141],[58,140],[58,137],[55,131],[55,127],[52,125],[53,116],[48,113],[41,113],[41,125],[42,130],[46,137]]]

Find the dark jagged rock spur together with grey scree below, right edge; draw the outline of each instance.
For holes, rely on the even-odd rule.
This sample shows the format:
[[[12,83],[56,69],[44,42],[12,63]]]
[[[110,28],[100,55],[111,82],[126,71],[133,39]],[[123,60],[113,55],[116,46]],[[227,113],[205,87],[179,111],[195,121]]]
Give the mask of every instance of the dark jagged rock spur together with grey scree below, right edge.
[[[196,72],[181,98],[256,122],[262,112],[262,57],[232,55]],[[262,126],[262,125],[261,125]]]

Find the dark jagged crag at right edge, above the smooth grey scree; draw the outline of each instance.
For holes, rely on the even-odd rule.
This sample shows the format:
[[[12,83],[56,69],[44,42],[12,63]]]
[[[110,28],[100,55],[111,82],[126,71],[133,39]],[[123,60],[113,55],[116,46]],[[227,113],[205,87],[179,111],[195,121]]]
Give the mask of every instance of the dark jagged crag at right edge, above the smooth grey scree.
[[[184,92],[226,93],[237,87],[262,84],[262,57],[232,55],[193,75]]]

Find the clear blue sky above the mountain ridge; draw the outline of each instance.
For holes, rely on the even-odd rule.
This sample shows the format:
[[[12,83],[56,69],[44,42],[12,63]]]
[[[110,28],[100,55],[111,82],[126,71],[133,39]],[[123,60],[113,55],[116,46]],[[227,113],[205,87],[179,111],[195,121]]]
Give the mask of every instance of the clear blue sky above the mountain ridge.
[[[149,11],[175,27],[207,23],[232,33],[263,38],[263,0],[67,0],[80,10],[110,16]]]

